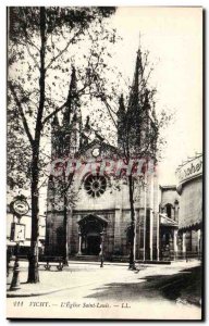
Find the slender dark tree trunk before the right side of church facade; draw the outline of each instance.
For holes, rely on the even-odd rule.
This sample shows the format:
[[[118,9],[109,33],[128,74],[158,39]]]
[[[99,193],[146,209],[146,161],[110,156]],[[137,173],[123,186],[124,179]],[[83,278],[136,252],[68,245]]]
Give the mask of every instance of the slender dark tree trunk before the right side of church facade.
[[[130,269],[135,269],[134,261],[134,238],[135,238],[135,212],[134,212],[134,189],[132,175],[128,176],[130,206],[131,206],[131,231],[130,231]]]

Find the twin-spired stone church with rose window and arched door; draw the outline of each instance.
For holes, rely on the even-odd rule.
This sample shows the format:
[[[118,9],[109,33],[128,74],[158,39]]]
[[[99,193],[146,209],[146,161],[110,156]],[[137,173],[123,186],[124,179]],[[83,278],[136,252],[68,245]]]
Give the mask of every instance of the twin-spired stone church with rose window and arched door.
[[[155,109],[132,105],[138,98],[140,51],[137,53],[133,90],[126,120],[132,116],[132,137],[140,139],[155,125]],[[79,98],[76,92],[76,71],[73,67],[66,105],[60,116],[54,116],[51,126],[51,160],[76,158],[77,161],[112,161],[122,147],[124,135],[124,101],[119,101],[116,113],[118,145],[109,145],[93,130],[87,116],[83,125]],[[139,101],[139,99],[138,99]],[[130,111],[128,111],[130,110]],[[144,110],[143,121],[137,110]],[[142,136],[144,133],[144,136]],[[138,140],[137,140],[138,141]],[[90,165],[91,166],[91,165]],[[156,171],[134,188],[134,259],[159,260],[159,185]],[[46,254],[90,260],[104,256],[107,261],[127,260],[131,237],[131,203],[128,181],[97,168],[84,168],[60,177],[50,176],[47,195]]]

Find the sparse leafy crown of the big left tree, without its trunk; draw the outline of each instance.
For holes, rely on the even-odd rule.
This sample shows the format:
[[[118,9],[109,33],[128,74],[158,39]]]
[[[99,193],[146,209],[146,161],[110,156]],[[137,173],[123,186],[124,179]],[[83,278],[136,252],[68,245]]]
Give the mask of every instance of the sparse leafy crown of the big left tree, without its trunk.
[[[46,137],[50,136],[54,113],[66,103],[72,64],[76,65],[77,96],[83,97],[83,104],[107,84],[106,59],[111,55],[108,47],[115,41],[115,30],[108,27],[106,17],[112,13],[114,8],[46,8],[40,171],[50,160]],[[40,101],[41,28],[39,8],[10,8],[8,174],[11,183],[21,187],[28,187],[30,179],[30,140],[35,138]],[[23,155],[24,160],[20,160]]]

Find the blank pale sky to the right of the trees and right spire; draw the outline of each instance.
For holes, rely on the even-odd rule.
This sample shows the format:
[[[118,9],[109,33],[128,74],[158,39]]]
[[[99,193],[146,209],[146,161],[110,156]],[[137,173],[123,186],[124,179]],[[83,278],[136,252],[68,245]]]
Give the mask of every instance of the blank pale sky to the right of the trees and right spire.
[[[159,163],[161,185],[176,184],[182,161],[202,152],[202,22],[200,8],[118,8],[112,25],[122,36],[115,63],[133,78],[139,42],[150,52],[157,113],[174,113],[163,130],[167,146]],[[139,38],[140,35],[140,38]]]

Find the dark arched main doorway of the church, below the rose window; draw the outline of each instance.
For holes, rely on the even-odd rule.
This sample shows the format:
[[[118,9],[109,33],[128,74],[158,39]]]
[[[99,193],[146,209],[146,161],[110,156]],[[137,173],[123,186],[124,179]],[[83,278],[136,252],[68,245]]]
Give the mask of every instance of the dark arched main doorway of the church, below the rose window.
[[[104,217],[87,215],[78,221],[79,254],[98,255],[101,251],[103,230],[108,225]]]

